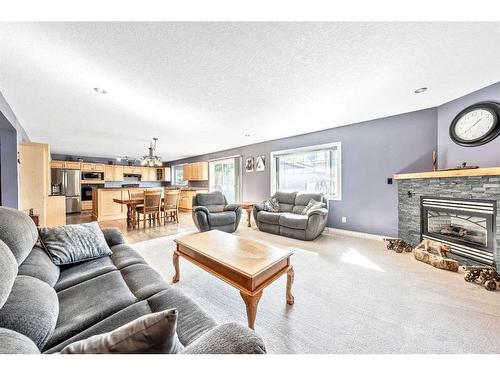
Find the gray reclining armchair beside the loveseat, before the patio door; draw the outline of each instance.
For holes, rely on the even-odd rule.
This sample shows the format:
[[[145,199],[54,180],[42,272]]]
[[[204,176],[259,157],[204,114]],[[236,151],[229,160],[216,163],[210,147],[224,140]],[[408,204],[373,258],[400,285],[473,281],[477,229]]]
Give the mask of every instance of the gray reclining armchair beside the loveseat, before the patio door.
[[[212,229],[228,233],[236,231],[241,211],[239,204],[227,204],[220,191],[198,193],[193,197],[193,221],[200,232]]]

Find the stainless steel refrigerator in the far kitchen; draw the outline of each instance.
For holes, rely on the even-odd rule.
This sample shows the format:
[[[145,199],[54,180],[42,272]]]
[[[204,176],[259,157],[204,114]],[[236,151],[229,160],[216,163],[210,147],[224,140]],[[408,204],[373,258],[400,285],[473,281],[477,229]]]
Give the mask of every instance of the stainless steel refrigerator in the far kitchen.
[[[82,175],[74,169],[51,170],[52,185],[59,185],[61,195],[66,196],[66,213],[81,212]]]

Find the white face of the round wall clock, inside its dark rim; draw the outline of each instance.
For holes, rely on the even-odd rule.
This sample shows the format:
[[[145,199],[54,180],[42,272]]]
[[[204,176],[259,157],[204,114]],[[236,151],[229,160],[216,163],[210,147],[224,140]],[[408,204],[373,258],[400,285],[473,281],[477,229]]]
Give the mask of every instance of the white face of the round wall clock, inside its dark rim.
[[[463,141],[474,142],[491,132],[496,114],[489,109],[478,108],[462,115],[455,124],[455,135]]]

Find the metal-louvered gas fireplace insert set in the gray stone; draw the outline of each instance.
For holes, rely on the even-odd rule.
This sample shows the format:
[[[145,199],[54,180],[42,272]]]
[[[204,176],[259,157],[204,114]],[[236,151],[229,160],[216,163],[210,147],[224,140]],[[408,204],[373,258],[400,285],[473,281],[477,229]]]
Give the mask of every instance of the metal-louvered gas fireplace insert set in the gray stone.
[[[420,198],[421,239],[450,245],[451,253],[467,264],[495,264],[495,218],[495,201]]]

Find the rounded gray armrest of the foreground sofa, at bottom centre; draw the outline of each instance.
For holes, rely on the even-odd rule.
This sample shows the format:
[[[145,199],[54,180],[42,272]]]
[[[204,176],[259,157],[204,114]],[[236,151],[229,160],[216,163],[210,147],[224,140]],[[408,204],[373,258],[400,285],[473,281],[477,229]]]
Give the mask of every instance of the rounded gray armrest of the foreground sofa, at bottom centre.
[[[262,339],[237,323],[226,323],[206,332],[180,354],[264,354]]]

